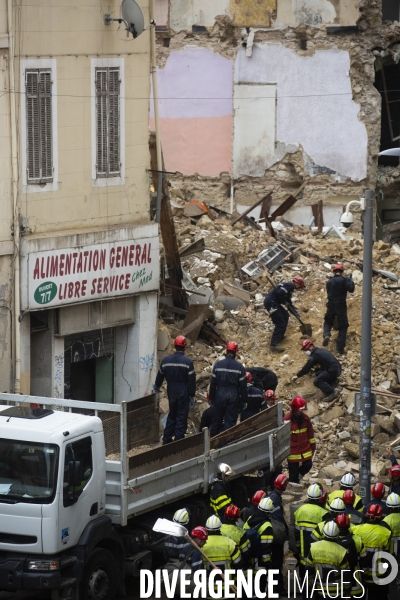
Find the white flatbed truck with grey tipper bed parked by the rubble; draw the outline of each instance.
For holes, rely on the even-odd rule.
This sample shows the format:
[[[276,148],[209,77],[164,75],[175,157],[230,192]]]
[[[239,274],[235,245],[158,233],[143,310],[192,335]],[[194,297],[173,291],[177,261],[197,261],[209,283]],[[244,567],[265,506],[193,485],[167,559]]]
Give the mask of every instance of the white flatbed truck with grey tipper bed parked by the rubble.
[[[220,462],[237,476],[289,454],[282,404],[210,440],[159,440],[155,396],[122,404],[0,394],[0,591],[113,600],[151,567],[145,517],[207,494]],[[188,501],[186,501],[188,502]],[[139,518],[138,518],[139,517]]]

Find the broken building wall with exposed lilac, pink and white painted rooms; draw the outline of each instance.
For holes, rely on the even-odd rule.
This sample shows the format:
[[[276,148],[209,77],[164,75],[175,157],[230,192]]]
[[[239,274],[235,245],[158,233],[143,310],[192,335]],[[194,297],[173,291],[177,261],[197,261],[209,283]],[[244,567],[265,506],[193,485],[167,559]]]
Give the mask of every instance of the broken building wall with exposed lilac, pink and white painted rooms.
[[[157,0],[161,139],[172,192],[226,210],[302,184],[287,218],[326,225],[367,187],[400,220],[398,0]],[[154,114],[150,112],[150,128]],[[232,202],[232,200],[234,202]]]

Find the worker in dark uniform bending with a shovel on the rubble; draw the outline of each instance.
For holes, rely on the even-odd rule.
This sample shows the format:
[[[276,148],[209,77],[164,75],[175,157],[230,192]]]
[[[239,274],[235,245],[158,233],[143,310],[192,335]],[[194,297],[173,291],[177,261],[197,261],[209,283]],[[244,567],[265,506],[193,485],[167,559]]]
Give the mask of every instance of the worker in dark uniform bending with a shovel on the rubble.
[[[283,308],[283,304],[294,309],[292,304],[292,294],[295,290],[304,289],[305,283],[302,277],[294,277],[285,283],[278,283],[264,299],[264,308],[268,312],[275,329],[272,333],[270,348],[274,352],[283,352],[279,342],[285,337],[287,324],[289,322],[289,313]],[[298,314],[298,313],[297,313]]]

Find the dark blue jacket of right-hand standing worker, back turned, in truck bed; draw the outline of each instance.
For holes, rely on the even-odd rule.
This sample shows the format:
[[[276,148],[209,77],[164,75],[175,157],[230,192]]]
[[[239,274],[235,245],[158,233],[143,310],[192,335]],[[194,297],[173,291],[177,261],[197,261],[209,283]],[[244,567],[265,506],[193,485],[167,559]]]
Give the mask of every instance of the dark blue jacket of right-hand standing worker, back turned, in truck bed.
[[[229,354],[216,362],[213,367],[210,379],[210,402],[218,399],[218,394],[223,393],[224,389],[229,391],[236,389],[237,397],[240,396],[242,404],[246,404],[247,382],[244,366]]]

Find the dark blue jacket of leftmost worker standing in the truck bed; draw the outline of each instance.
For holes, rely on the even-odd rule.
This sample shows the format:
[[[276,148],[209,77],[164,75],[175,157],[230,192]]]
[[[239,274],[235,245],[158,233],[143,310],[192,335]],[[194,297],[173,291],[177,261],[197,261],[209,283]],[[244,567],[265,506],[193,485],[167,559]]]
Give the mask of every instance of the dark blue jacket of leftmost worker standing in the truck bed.
[[[156,387],[160,388],[164,377],[167,380],[167,392],[187,395],[192,398],[196,393],[196,374],[190,358],[183,352],[175,352],[162,359],[156,377]]]

